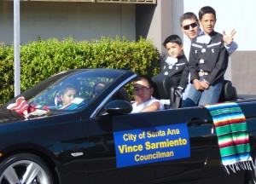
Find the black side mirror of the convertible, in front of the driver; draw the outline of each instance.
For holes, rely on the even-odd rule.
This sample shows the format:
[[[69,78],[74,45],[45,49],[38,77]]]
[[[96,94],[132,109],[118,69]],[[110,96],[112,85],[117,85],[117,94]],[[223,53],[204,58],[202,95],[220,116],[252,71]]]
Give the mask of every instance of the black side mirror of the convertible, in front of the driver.
[[[132,111],[132,106],[128,101],[110,101],[104,109],[109,114],[128,114]]]

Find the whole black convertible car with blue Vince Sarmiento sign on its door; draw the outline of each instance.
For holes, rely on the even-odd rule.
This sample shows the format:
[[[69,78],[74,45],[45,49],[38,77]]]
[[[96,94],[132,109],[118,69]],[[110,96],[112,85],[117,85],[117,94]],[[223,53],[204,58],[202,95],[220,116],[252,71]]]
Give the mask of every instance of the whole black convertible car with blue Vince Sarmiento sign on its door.
[[[212,116],[203,106],[130,113],[136,74],[117,69],[61,72],[0,111],[0,183],[249,183],[254,169],[227,173]],[[92,96],[99,81],[107,86]],[[154,80],[161,93],[165,80]],[[58,104],[71,83],[76,98]],[[128,86],[128,87],[127,87]],[[168,87],[169,88],[169,87]],[[167,89],[164,98],[170,98]],[[159,94],[159,95],[160,95]],[[161,96],[160,96],[161,97]],[[256,156],[256,101],[236,101]]]

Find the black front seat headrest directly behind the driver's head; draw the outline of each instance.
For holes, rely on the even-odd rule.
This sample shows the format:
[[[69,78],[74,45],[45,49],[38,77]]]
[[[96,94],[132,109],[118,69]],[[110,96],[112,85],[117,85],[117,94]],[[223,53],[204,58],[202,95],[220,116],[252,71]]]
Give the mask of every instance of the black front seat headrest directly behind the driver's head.
[[[157,99],[170,99],[170,89],[174,84],[172,78],[167,75],[156,75],[152,81],[154,83],[153,96]]]

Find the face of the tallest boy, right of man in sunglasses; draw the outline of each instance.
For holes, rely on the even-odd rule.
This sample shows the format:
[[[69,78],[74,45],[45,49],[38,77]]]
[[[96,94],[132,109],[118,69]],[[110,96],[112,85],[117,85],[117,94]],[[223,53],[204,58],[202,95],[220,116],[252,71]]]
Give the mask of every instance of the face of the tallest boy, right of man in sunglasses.
[[[201,20],[199,20],[199,23],[201,25],[201,28],[204,31],[204,34],[205,35],[210,34],[211,32],[214,31],[214,26],[216,24],[214,14],[204,14]]]

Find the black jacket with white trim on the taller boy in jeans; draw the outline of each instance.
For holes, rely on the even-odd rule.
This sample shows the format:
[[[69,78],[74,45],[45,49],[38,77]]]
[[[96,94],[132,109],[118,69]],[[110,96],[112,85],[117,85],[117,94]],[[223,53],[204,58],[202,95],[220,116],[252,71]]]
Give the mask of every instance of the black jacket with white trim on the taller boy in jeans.
[[[202,37],[201,35],[199,37]],[[229,53],[224,47],[222,34],[212,32],[210,43],[197,43],[197,38],[192,40],[189,53],[190,83],[195,78],[199,79],[200,70],[209,72],[206,80],[208,83],[215,83],[218,78],[224,77],[228,67]]]

